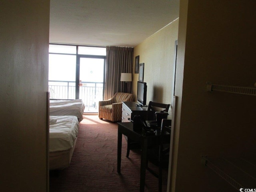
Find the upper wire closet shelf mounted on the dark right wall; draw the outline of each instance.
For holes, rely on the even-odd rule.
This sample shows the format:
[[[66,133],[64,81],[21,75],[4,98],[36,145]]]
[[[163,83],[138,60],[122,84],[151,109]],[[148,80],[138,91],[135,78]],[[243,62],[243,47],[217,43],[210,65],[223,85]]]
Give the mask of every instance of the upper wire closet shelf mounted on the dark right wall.
[[[229,85],[219,85],[207,83],[207,91],[221,91],[221,92],[229,92],[229,93],[237,93],[244,95],[254,95],[256,96],[256,88],[255,87],[241,87],[241,86],[229,86]]]

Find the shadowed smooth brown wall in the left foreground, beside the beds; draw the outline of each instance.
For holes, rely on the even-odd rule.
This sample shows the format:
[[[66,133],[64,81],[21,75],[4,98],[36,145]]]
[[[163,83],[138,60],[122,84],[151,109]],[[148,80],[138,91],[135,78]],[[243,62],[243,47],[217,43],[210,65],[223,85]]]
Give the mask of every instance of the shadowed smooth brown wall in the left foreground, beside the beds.
[[[50,0],[2,1],[0,190],[47,191]]]

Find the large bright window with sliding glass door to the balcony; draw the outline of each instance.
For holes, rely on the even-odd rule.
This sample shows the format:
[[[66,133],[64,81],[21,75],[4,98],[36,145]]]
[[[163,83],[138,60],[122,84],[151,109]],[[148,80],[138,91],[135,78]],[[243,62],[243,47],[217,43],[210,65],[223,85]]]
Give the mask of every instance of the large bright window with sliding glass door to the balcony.
[[[81,98],[96,108],[103,98],[106,48],[49,45],[49,91],[52,99]]]

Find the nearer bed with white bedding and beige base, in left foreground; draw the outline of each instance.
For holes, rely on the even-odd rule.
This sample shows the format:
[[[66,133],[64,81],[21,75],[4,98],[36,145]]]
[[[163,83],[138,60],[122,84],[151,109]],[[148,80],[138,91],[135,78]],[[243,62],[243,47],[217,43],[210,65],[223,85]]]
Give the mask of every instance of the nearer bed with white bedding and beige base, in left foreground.
[[[50,116],[50,170],[62,170],[70,165],[76,146],[78,127],[76,116]]]

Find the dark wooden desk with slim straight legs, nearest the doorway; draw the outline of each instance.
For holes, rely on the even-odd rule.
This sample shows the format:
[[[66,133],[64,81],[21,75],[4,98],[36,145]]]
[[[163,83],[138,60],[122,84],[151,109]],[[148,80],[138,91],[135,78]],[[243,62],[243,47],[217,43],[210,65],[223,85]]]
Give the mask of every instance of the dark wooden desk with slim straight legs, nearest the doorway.
[[[142,132],[135,132],[133,130],[132,122],[118,123],[118,141],[117,141],[117,172],[118,173],[121,172],[122,134],[141,144],[140,192],[144,192],[148,143],[159,144],[160,131],[156,131],[155,135],[145,135],[144,130],[142,130]]]

